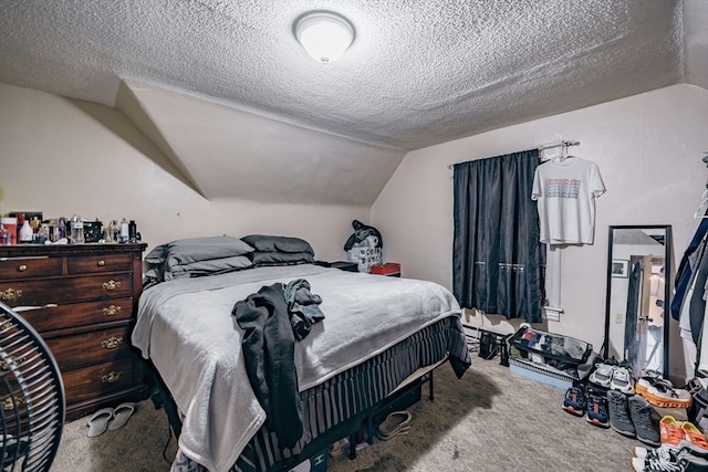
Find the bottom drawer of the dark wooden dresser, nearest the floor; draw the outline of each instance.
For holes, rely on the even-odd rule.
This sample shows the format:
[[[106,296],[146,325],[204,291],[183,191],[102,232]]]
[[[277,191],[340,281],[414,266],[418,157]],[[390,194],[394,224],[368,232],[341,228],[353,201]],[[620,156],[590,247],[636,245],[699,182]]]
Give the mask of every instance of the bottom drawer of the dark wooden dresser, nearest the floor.
[[[133,363],[134,359],[128,357],[76,370],[62,370],[66,403],[92,400],[133,387],[136,384]]]

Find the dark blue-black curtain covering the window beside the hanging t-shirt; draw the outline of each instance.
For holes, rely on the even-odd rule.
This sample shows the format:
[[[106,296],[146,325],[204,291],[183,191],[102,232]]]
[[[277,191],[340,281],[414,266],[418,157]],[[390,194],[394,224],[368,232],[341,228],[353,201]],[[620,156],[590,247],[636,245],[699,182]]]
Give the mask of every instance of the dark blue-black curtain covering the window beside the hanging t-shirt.
[[[452,292],[460,305],[540,323],[545,247],[531,199],[539,151],[454,167]]]

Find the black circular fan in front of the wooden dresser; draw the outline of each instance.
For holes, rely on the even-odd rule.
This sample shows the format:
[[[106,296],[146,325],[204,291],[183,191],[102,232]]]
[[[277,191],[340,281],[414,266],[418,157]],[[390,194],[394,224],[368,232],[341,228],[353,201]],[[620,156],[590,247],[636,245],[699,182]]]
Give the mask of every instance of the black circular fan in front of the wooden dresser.
[[[0,471],[49,471],[64,410],[64,384],[52,353],[0,302]]]

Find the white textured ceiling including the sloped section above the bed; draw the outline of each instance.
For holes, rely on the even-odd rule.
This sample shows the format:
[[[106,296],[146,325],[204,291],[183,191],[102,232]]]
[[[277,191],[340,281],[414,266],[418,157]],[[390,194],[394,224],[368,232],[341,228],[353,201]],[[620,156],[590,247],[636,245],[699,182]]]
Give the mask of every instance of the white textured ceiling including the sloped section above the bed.
[[[407,150],[671,84],[708,88],[705,0],[0,6],[0,82],[122,109],[207,197],[268,199],[258,167],[291,158],[281,199],[371,203]],[[314,9],[356,29],[327,65],[292,33]],[[306,183],[323,164],[336,188]],[[254,188],[227,186],[229,170]]]

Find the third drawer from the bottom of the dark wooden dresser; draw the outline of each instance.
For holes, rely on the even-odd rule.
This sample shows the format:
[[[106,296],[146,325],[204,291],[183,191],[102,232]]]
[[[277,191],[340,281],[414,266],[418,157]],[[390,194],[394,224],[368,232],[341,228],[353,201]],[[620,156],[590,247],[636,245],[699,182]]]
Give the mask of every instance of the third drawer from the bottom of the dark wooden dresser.
[[[50,305],[20,313],[39,332],[129,319],[132,314],[131,297]]]

